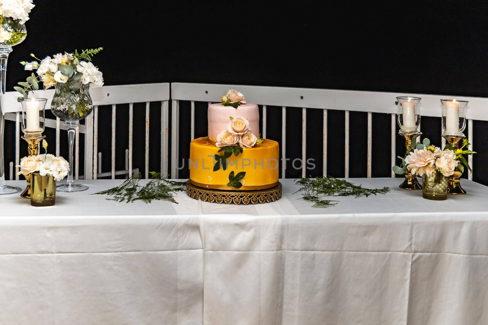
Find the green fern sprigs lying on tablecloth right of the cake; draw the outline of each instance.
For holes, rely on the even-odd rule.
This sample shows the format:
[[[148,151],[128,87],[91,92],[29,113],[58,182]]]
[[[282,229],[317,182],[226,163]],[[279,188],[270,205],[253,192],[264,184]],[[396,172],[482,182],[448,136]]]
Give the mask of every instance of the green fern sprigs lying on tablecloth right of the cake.
[[[337,179],[334,177],[316,177],[316,178],[297,178],[295,183],[301,185],[297,192],[303,192],[303,200],[313,202],[313,207],[327,207],[337,204],[337,201],[324,200],[321,196],[361,196],[368,197],[369,195],[386,194],[390,191],[389,188],[383,189],[366,189],[361,185],[355,185],[345,179]],[[335,203],[333,203],[335,202]]]

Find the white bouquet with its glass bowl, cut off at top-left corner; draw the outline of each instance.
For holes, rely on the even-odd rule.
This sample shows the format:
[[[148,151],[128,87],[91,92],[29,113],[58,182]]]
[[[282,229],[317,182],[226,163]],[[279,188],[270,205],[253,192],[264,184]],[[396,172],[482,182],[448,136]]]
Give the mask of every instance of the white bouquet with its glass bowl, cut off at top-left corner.
[[[23,24],[34,8],[32,0],[0,0],[0,44],[14,46],[27,35]]]

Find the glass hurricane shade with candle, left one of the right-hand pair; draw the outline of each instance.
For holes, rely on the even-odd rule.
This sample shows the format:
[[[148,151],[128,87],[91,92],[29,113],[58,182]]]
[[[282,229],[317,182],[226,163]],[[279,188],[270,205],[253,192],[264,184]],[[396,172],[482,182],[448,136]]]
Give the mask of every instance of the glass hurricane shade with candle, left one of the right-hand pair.
[[[420,126],[420,97],[397,97],[397,122],[402,133],[417,133]]]

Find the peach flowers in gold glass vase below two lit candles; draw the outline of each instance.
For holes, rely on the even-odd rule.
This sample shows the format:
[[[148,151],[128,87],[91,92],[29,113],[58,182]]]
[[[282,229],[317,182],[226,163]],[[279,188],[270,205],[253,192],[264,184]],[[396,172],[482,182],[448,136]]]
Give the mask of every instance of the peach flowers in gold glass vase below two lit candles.
[[[468,140],[466,140],[466,145]],[[464,148],[464,147],[463,147]],[[447,199],[447,177],[453,175],[458,168],[464,171],[462,164],[471,168],[463,157],[463,154],[472,154],[469,150],[452,150],[447,145],[444,150],[432,146],[429,139],[424,139],[423,143],[410,151],[405,158],[399,157],[402,166],[393,166],[393,171],[397,174],[404,174],[406,171],[422,177],[423,189],[422,196],[429,200]]]

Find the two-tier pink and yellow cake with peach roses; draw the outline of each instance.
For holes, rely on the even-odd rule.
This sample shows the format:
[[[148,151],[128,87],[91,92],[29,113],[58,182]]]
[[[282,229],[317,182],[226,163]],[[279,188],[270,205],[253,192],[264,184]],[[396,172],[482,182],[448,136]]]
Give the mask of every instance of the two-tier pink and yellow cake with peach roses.
[[[277,187],[279,146],[260,138],[258,105],[246,103],[236,90],[221,99],[208,105],[208,137],[190,144],[189,183],[240,192]]]

